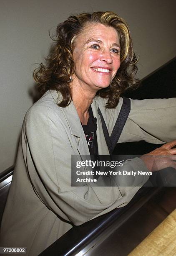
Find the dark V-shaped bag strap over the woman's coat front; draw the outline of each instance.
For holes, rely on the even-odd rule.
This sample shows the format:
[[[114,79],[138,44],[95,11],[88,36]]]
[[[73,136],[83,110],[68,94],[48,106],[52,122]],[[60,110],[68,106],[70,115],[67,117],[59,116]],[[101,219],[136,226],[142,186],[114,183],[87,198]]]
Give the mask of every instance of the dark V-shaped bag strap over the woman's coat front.
[[[103,128],[103,133],[105,136],[106,144],[108,146],[109,154],[113,153],[113,150],[121,136],[121,133],[123,131],[123,127],[126,123],[126,120],[128,118],[128,115],[130,113],[131,109],[131,102],[130,99],[123,97],[123,104],[120,110],[120,113],[118,115],[118,118],[116,120],[116,123],[113,127],[113,131],[111,133],[111,137],[109,136],[108,133],[108,128],[106,126],[105,120],[103,118],[103,115],[100,111],[100,108],[98,108],[98,114],[100,115],[101,118],[101,123],[102,123],[102,128]]]

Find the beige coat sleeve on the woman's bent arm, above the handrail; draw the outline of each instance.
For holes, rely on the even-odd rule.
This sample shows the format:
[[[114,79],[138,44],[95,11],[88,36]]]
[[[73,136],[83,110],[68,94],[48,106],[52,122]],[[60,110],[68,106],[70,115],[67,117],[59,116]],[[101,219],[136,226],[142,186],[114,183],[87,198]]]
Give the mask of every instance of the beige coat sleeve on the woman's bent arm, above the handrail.
[[[35,194],[60,218],[80,225],[126,205],[139,187],[71,187],[71,155],[75,154],[68,128],[51,108],[32,107],[22,132],[23,157]],[[133,166],[146,170],[140,159]]]

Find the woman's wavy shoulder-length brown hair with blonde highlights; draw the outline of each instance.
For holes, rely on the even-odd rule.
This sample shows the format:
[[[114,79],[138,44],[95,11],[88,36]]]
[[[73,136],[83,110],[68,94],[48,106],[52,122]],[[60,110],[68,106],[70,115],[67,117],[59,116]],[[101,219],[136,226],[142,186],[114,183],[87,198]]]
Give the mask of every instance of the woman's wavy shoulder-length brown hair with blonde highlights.
[[[69,82],[70,75],[74,73],[75,38],[91,23],[101,23],[115,28],[120,40],[121,66],[111,84],[97,92],[97,95],[108,99],[106,108],[115,108],[120,95],[127,88],[138,86],[138,79],[134,78],[137,72],[137,59],[126,21],[111,11],[72,15],[57,26],[56,34],[52,38],[55,44],[45,59],[46,64],[41,63],[33,73],[41,93],[52,89],[62,94],[62,101],[58,103],[60,107],[67,107],[72,99]]]

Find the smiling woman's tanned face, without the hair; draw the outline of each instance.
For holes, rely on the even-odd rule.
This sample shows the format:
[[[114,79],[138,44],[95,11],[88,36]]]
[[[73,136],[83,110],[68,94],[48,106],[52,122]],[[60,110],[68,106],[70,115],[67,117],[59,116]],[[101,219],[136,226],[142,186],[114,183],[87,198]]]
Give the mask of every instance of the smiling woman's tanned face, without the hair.
[[[91,24],[74,43],[75,82],[92,92],[108,87],[121,64],[116,30],[100,23]]]

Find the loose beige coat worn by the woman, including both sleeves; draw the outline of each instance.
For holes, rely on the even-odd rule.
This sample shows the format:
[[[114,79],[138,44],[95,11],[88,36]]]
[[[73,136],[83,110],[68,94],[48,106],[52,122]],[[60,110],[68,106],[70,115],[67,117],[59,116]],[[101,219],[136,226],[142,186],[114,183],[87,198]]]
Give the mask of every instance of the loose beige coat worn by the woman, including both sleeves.
[[[138,187],[71,187],[71,155],[88,155],[88,145],[73,102],[56,104],[57,93],[46,92],[25,115],[13,181],[1,225],[0,246],[27,247],[35,256],[67,232],[116,207],[123,207]],[[109,133],[121,109],[105,109],[105,100],[92,103],[97,118],[99,154],[109,154],[98,107]],[[164,143],[176,139],[176,99],[131,100],[131,112],[120,142]],[[146,169],[141,159],[133,167]]]

